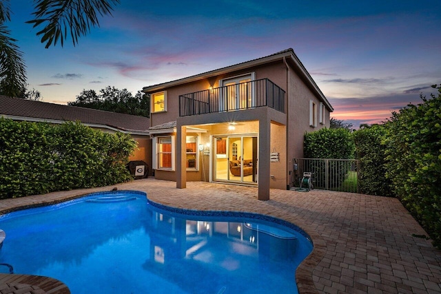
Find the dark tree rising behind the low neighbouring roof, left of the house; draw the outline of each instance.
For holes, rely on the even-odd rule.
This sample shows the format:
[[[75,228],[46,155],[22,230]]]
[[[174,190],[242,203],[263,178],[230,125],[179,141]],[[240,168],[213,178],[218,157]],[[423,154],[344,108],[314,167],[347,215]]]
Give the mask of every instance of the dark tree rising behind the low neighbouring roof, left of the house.
[[[76,101],[68,105],[105,110],[107,112],[119,112],[136,116],[150,116],[150,97],[138,91],[135,96],[127,89],[119,90],[116,87],[107,86],[96,94],[94,90],[83,90]]]

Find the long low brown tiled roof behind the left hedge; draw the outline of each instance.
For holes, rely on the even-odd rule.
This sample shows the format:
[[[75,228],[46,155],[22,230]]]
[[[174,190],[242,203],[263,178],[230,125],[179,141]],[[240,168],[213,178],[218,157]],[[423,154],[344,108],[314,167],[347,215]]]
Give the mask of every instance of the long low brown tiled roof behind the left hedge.
[[[105,112],[84,107],[59,105],[0,95],[0,116],[13,120],[63,123],[80,121],[90,127],[112,129],[127,134],[147,135],[150,118]]]

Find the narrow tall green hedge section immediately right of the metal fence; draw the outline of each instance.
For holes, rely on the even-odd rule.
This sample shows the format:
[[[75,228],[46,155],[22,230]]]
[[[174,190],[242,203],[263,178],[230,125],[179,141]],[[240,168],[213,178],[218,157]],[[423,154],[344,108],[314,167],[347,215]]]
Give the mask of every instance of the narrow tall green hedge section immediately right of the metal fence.
[[[356,144],[356,159],[360,160],[358,188],[360,193],[380,196],[393,196],[391,181],[386,178],[385,145],[387,134],[383,125],[372,125],[353,133]]]

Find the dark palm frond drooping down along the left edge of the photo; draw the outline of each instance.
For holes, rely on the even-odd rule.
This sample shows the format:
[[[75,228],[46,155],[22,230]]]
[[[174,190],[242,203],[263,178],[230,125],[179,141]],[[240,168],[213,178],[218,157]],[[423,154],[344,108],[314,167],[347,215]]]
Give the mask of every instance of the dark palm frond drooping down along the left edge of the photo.
[[[23,53],[10,37],[10,30],[0,22],[0,94],[20,96],[26,87]]]

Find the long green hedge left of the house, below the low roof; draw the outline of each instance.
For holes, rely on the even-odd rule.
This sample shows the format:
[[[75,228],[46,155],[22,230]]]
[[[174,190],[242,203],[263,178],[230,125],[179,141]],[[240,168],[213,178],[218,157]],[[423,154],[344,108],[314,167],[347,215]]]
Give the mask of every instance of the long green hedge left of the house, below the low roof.
[[[0,118],[0,198],[125,182],[131,179],[125,165],[134,147],[127,134],[80,123]]]

